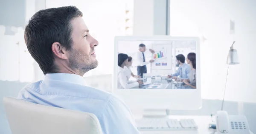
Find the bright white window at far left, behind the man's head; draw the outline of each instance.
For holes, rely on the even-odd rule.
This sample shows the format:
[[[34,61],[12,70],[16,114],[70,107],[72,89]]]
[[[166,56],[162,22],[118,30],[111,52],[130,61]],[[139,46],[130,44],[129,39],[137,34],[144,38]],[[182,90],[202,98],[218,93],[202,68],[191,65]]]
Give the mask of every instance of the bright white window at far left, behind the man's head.
[[[0,80],[29,82],[34,79],[34,63],[24,41],[22,27],[1,25]]]

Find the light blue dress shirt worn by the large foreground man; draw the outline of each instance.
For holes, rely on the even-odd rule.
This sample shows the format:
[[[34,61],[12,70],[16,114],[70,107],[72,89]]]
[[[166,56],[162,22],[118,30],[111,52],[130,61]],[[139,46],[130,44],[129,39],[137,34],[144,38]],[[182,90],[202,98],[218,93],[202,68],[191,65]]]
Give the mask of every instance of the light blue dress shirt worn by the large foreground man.
[[[44,80],[26,85],[17,98],[93,113],[99,119],[103,134],[140,134],[131,111],[122,100],[111,93],[86,86],[80,75],[46,74]]]

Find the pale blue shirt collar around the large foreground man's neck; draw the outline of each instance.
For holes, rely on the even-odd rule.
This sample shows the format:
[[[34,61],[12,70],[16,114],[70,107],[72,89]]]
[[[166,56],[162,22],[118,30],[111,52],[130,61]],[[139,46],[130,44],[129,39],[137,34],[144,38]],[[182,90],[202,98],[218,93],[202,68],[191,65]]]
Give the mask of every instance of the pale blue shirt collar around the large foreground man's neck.
[[[66,81],[74,84],[86,85],[82,76],[71,73],[47,73],[44,80]]]

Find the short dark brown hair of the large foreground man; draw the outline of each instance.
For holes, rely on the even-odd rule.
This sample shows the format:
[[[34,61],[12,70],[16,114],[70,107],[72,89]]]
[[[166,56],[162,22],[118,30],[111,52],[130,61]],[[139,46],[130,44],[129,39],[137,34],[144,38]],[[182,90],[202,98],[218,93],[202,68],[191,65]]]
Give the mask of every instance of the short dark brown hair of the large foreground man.
[[[35,13],[24,31],[26,46],[44,74],[57,73],[52,44],[59,42],[70,50],[73,40],[71,20],[83,14],[75,6],[48,8]]]

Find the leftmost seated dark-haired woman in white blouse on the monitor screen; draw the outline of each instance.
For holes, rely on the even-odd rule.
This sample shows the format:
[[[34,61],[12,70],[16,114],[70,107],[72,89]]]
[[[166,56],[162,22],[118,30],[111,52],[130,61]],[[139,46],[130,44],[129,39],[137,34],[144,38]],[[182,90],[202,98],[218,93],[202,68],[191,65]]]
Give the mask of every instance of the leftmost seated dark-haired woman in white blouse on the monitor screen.
[[[128,55],[124,53],[118,54],[118,73],[117,73],[117,87],[119,89],[128,89],[138,87],[142,81],[128,81],[127,72],[124,67],[128,64]]]

